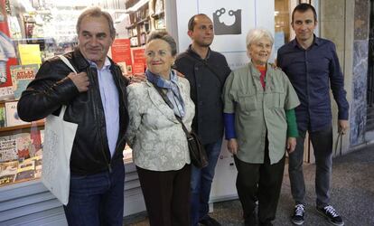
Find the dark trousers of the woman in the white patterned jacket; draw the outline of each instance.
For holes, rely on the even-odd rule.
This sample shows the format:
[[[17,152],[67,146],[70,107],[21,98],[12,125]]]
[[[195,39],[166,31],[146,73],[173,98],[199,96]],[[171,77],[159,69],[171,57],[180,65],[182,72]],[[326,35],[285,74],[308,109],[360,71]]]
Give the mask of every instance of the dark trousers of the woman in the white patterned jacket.
[[[191,165],[175,171],[136,170],[150,225],[189,226]]]

